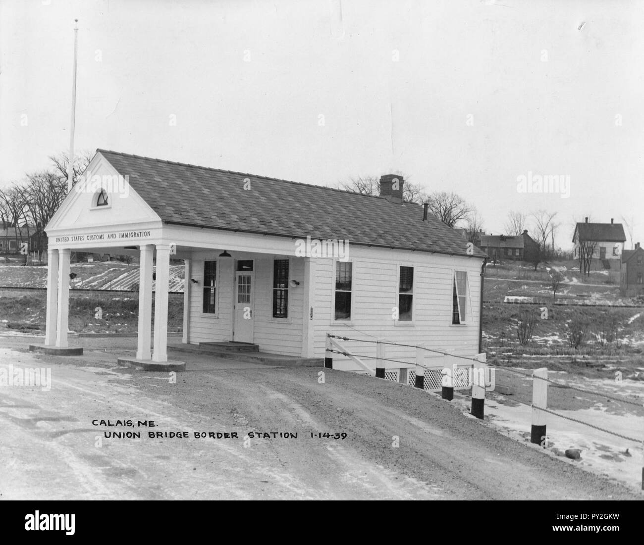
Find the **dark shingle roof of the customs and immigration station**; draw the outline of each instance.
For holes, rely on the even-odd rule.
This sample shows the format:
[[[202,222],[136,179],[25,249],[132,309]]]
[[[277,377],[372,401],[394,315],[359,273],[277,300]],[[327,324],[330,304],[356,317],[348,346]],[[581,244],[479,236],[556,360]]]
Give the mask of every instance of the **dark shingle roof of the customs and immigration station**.
[[[164,223],[350,244],[466,254],[466,241],[422,207],[330,187],[98,149]],[[251,189],[245,190],[245,180]],[[475,248],[475,256],[486,257]]]

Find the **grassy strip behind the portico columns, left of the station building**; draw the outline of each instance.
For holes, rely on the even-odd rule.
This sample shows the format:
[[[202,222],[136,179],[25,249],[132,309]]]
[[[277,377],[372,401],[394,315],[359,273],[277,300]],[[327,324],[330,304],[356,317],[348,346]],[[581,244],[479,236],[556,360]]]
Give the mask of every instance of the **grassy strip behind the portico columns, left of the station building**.
[[[100,317],[97,317],[100,307]],[[154,301],[153,301],[154,308]],[[0,290],[0,332],[18,331],[8,324],[42,326],[46,311],[45,291]],[[154,311],[153,311],[154,319]],[[171,293],[168,331],[182,331],[184,296]],[[77,333],[129,333],[138,328],[138,293],[88,293],[70,291],[70,331]]]

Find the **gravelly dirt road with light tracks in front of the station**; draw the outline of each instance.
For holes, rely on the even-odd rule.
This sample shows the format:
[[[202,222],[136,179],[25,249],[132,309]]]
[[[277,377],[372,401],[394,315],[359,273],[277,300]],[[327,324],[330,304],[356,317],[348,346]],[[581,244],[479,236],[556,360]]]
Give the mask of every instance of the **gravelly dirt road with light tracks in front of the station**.
[[[26,353],[27,342],[0,338],[0,369],[50,367],[52,385],[0,387],[2,499],[639,498],[392,382],[327,369],[321,383],[314,367],[198,360],[171,383],[166,373],[115,367],[115,350],[99,341],[73,364]],[[151,430],[189,438],[150,439]],[[324,432],[346,439],[317,437]]]

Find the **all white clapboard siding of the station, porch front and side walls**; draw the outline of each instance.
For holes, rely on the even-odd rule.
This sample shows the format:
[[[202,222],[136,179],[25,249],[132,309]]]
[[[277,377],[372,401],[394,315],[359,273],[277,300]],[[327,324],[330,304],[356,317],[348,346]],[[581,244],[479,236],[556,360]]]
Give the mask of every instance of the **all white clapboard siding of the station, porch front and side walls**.
[[[234,295],[235,259],[218,259],[218,314],[202,313],[204,259],[216,259],[217,254],[198,252],[193,255],[193,277],[200,280],[191,292],[191,327],[189,342],[231,340],[232,300]],[[237,256],[236,256],[237,257]],[[307,344],[303,339],[305,290],[312,283],[310,306],[313,317],[313,355],[325,355],[327,332],[360,340],[385,338],[401,344],[424,344],[440,351],[473,356],[478,351],[480,309],[480,259],[450,257],[426,252],[402,252],[379,248],[353,248],[349,261],[353,263],[352,320],[334,322],[333,296],[335,261],[312,258],[313,277],[307,279],[305,260],[290,257],[290,279],[300,282],[289,288],[289,318],[272,317],[273,259],[281,255],[243,254],[239,259],[254,259],[254,342],[262,351],[287,355],[302,355]],[[395,322],[393,309],[398,304],[399,266],[413,266],[413,322]],[[453,271],[468,272],[468,324],[451,324]],[[470,310],[471,309],[471,310]],[[307,340],[308,341],[308,340]],[[375,356],[375,343],[343,341],[343,346],[355,354]],[[386,348],[387,357],[415,362],[415,348]],[[442,356],[427,354],[431,362],[440,364]],[[343,359],[345,360],[343,362]],[[355,364],[340,356],[334,358],[341,368],[355,369]],[[373,360],[367,360],[373,365]],[[395,364],[390,364],[395,367]]]

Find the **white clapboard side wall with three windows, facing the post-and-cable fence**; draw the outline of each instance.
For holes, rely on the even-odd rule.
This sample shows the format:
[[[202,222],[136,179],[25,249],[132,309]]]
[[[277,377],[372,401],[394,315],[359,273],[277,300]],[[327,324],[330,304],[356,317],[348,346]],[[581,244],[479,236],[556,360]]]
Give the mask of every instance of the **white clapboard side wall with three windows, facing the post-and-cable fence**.
[[[449,257],[439,254],[395,250],[370,249],[354,252],[349,259],[354,266],[352,286],[352,320],[348,323],[332,320],[332,295],[335,263],[332,259],[316,262],[316,319],[314,323],[314,355],[322,357],[327,332],[334,335],[374,341],[384,338],[401,344],[424,346],[473,356],[478,352],[478,324],[480,311],[480,259]],[[393,320],[393,308],[398,304],[398,268],[413,266],[413,322]],[[468,324],[451,324],[453,271],[468,272]],[[471,312],[470,309],[471,308]],[[351,353],[375,357],[374,342],[341,341]],[[415,348],[386,347],[386,357],[415,362]],[[334,357],[334,366],[358,369],[344,358]],[[442,356],[431,355],[432,364],[440,364]],[[374,360],[366,363],[374,365]],[[396,367],[389,363],[388,366]]]

